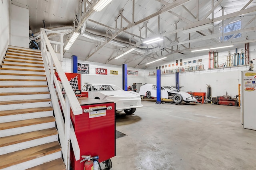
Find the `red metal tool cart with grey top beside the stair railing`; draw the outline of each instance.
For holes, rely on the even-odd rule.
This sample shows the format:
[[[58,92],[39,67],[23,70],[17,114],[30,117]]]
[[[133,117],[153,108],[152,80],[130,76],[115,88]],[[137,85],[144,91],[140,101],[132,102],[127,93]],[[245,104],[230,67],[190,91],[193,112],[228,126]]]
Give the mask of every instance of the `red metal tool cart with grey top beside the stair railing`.
[[[75,160],[71,150],[70,167],[73,170],[84,170],[82,155],[99,156],[99,162],[105,162],[106,168],[111,168],[110,158],[116,156],[116,121],[115,103],[103,100],[79,98],[83,114],[73,115],[71,121],[74,126],[80,160]]]

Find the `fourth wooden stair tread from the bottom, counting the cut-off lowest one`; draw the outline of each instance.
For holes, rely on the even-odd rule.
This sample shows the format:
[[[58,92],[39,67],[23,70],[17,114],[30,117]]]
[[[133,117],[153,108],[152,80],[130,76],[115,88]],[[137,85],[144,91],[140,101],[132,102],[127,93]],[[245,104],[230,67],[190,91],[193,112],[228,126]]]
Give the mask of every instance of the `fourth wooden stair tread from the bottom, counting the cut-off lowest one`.
[[[26,119],[26,120],[0,123],[0,130],[12,129],[12,128],[16,128],[16,127],[24,127],[24,126],[30,126],[30,125],[37,125],[37,124],[48,123],[48,122],[53,122],[53,121],[55,121],[55,118],[53,116],[49,116],[49,117],[40,117],[40,118],[35,118],[35,119]]]

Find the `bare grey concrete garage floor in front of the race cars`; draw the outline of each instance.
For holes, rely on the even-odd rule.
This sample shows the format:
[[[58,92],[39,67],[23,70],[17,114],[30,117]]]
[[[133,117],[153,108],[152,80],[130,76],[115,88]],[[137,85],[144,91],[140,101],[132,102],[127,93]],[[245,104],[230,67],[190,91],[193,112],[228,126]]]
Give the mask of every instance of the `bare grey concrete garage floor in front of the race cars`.
[[[240,107],[155,103],[116,116],[126,136],[111,170],[256,170],[256,131],[242,128]]]

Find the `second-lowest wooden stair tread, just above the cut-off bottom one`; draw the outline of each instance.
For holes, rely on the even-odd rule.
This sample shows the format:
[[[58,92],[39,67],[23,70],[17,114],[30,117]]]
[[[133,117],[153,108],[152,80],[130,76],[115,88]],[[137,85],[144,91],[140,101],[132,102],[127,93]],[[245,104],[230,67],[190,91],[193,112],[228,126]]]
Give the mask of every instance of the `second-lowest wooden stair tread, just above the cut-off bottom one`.
[[[0,169],[6,168],[15,164],[20,164],[28,160],[39,158],[48,154],[52,154],[61,150],[58,141],[46,143],[28,149],[18,150],[8,154],[0,155]]]

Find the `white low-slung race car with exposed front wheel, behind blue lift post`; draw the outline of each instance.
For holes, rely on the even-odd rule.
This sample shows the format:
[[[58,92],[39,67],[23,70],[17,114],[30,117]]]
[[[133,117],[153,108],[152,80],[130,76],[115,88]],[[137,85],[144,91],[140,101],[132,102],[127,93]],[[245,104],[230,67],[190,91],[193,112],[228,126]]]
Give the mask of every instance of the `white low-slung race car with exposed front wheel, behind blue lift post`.
[[[147,98],[156,98],[156,85],[144,84],[140,87],[139,93]],[[161,98],[172,99],[177,104],[180,104],[182,101],[186,103],[197,102],[197,100],[190,94],[175,89],[172,86],[161,86]]]

